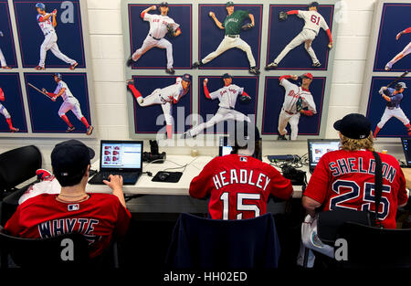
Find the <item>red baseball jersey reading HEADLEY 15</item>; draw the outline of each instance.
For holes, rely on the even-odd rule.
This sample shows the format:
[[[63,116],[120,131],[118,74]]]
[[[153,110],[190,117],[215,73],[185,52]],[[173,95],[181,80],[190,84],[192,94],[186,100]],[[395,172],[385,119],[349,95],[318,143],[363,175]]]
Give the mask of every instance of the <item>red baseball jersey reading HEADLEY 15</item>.
[[[256,158],[237,154],[216,157],[190,184],[190,196],[210,196],[208,211],[214,219],[258,217],[267,212],[269,195],[288,199],[290,180]]]

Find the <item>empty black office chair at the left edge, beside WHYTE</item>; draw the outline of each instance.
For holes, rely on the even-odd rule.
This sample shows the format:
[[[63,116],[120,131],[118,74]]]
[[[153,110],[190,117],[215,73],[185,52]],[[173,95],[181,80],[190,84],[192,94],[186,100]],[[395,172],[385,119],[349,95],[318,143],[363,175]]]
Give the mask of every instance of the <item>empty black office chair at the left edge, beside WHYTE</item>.
[[[0,196],[3,198],[0,206],[0,224],[2,226],[5,226],[5,222],[15,213],[18,199],[33,183],[21,188],[16,188],[16,185],[33,178],[37,169],[41,168],[41,164],[41,153],[34,145],[0,154]]]

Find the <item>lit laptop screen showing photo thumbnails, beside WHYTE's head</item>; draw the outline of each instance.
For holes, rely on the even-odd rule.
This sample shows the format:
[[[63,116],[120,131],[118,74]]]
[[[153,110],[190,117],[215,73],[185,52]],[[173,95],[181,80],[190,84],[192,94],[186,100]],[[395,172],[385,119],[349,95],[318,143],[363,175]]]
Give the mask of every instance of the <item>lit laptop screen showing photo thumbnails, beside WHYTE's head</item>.
[[[100,169],[142,169],[142,142],[101,142]]]

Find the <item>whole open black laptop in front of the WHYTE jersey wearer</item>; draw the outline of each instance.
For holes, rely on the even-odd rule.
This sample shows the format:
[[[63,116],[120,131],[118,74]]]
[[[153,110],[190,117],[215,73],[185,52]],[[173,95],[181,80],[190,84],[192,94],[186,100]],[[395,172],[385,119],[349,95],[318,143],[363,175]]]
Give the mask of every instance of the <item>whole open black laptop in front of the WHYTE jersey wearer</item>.
[[[100,171],[89,184],[101,185],[109,175],[121,175],[123,185],[134,185],[142,175],[142,141],[100,142]]]

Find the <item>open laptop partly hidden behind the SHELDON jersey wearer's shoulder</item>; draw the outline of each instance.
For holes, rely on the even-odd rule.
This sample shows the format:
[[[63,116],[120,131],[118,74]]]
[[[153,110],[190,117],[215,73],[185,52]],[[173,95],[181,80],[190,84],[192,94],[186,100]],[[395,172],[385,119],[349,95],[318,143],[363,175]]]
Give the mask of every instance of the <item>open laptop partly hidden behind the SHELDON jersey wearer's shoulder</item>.
[[[314,172],[316,165],[320,162],[323,154],[339,150],[340,140],[338,139],[308,139],[309,168],[310,173]]]

